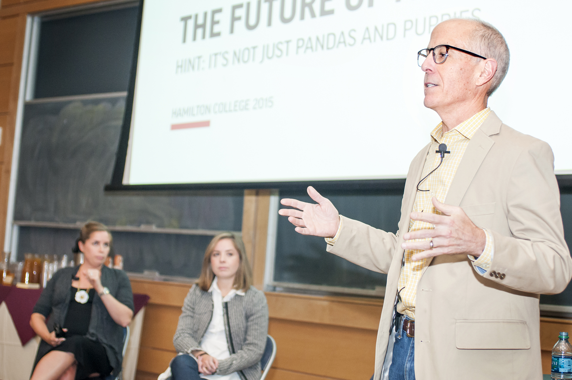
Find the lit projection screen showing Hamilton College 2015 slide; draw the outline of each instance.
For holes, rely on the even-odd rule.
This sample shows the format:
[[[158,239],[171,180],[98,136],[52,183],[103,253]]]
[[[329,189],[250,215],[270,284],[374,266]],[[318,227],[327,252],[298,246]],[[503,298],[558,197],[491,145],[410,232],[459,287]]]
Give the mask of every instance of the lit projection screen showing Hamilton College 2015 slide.
[[[572,173],[570,11],[570,1],[145,0],[122,184],[404,178],[440,121],[423,106],[416,53],[459,17],[492,23],[509,44],[492,110],[549,142],[555,172]]]

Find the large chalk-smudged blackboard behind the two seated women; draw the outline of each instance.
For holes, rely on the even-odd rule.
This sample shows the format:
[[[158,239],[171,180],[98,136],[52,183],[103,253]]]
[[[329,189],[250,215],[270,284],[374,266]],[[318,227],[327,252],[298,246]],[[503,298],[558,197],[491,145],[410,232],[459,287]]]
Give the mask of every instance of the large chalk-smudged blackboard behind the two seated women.
[[[124,97],[29,102],[22,126],[14,220],[240,231],[243,194],[108,195],[125,110]],[[50,235],[51,233],[51,235]],[[212,236],[114,232],[128,271],[198,274],[195,256]],[[51,236],[51,237],[50,237]],[[23,253],[63,254],[77,231],[22,227]],[[67,248],[66,248],[67,247]],[[194,258],[194,259],[193,259]]]

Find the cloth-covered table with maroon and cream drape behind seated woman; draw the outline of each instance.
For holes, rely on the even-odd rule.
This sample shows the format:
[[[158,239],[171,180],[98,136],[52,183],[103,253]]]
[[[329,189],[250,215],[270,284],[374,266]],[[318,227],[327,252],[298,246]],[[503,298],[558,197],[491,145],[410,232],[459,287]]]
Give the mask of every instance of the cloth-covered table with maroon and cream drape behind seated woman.
[[[0,379],[28,380],[41,339],[30,327],[30,316],[41,290],[0,286]],[[149,296],[133,294],[135,316],[123,360],[122,378],[133,380],[137,370],[141,328]]]

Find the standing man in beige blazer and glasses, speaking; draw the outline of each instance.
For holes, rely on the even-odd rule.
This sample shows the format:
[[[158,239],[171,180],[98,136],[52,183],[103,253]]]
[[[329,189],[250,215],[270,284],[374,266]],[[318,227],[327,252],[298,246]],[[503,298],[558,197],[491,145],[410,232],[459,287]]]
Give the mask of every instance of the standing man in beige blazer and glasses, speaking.
[[[540,379],[538,295],[572,276],[553,153],[487,108],[509,68],[494,27],[442,22],[418,61],[442,122],[411,162],[398,232],[339,215],[312,187],[317,204],[283,199],[295,209],[279,213],[387,273],[375,380]]]

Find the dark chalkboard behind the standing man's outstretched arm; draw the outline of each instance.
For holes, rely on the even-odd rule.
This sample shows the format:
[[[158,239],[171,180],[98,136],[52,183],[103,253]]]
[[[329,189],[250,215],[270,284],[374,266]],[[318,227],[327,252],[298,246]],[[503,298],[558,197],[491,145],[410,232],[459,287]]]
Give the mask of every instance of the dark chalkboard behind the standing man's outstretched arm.
[[[398,192],[327,193],[338,211],[384,231],[397,231],[402,194]],[[313,202],[301,192],[281,192],[281,198]],[[572,247],[572,194],[561,194],[565,239]],[[300,235],[285,217],[278,219],[274,280],[312,285],[375,289],[384,286],[387,276],[365,270],[325,251],[323,238]],[[572,306],[572,284],[560,294],[541,295],[542,304]],[[547,313],[545,313],[548,315]]]

